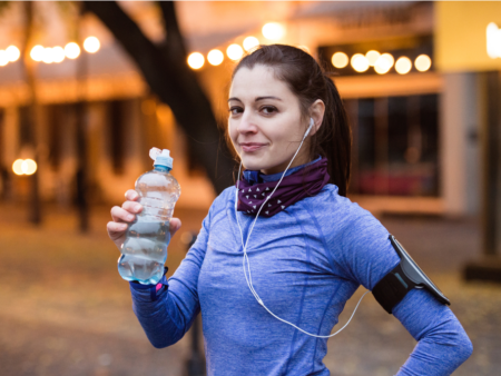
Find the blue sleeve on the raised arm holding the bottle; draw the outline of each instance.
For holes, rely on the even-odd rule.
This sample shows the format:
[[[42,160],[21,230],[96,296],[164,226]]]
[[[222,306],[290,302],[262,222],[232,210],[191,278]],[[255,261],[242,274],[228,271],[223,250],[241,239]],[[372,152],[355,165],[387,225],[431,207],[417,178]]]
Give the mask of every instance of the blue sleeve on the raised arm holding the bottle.
[[[210,211],[203,221],[196,243],[156,300],[150,297],[149,288],[130,284],[132,310],[157,348],[174,345],[183,338],[200,311],[197,283],[206,253],[209,222]]]

